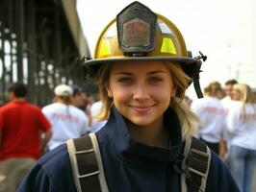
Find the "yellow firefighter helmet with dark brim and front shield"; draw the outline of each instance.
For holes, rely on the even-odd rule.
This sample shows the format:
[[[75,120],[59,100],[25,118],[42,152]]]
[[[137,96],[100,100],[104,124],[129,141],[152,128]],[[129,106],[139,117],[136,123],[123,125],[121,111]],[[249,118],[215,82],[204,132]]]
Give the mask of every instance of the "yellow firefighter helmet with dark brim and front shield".
[[[136,1],[119,12],[103,30],[95,47],[94,60],[86,60],[85,65],[95,73],[101,64],[109,62],[173,61],[180,63],[196,82],[200,59],[188,56],[184,38],[171,21]],[[197,96],[201,97],[199,84],[197,86]]]

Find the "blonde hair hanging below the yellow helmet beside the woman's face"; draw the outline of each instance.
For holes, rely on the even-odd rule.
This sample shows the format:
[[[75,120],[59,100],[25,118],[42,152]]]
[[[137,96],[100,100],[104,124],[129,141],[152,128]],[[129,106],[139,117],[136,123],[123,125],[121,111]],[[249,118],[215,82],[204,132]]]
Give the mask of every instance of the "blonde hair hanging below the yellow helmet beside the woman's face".
[[[176,86],[176,94],[175,97],[171,98],[169,107],[174,109],[178,115],[182,125],[183,138],[188,138],[195,132],[196,124],[199,123],[199,118],[183,102],[185,91],[189,84],[192,83],[192,79],[184,73],[180,64],[165,63],[170,70],[173,83]],[[108,119],[110,108],[113,106],[113,99],[108,96],[107,92],[112,66],[112,63],[103,64],[96,75],[96,84],[99,87],[99,93],[102,98],[102,108],[96,116],[98,120]]]

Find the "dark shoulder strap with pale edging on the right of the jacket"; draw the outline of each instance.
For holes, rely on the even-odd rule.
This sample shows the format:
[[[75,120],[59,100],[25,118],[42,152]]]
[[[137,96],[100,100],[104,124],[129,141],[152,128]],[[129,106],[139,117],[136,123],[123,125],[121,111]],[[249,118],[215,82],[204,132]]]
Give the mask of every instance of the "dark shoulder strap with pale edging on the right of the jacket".
[[[211,151],[199,139],[186,140],[182,161],[182,192],[204,192],[211,163]]]

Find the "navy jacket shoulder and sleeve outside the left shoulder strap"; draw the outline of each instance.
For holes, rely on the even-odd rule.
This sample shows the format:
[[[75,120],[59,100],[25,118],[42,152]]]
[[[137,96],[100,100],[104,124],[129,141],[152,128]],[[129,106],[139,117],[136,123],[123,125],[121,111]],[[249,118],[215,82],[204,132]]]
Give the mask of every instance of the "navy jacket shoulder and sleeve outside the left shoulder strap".
[[[60,191],[76,191],[65,144],[42,156],[17,189],[17,192]]]

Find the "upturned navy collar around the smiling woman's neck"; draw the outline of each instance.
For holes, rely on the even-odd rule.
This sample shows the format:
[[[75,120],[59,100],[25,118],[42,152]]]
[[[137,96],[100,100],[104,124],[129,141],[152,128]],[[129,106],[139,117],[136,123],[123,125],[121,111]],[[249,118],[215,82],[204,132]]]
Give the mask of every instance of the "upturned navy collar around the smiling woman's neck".
[[[147,146],[132,139],[125,118],[113,107],[105,126],[106,141],[110,146],[114,146],[110,148],[111,153],[124,160],[150,164],[180,161],[183,145],[178,116],[173,109],[167,108],[164,120],[169,131],[171,143],[169,149]]]

